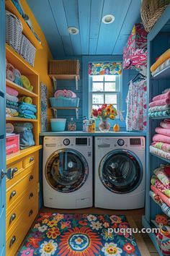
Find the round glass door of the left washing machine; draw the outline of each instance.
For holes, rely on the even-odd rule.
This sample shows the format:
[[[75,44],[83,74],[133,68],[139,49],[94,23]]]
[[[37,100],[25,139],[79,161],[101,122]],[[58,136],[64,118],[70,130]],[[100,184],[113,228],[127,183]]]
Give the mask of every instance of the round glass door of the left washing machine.
[[[82,187],[88,174],[88,163],[84,156],[71,149],[55,151],[45,166],[48,184],[63,193],[73,192]]]

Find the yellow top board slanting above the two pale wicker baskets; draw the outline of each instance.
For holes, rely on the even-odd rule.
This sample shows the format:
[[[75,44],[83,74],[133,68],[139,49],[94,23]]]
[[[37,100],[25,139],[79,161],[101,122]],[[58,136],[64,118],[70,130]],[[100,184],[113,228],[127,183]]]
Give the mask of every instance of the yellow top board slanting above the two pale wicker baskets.
[[[42,45],[39,43],[39,41],[37,40],[35,35],[32,33],[32,30],[27,25],[27,22],[24,21],[21,14],[19,14],[17,8],[14,6],[14,4],[12,3],[11,0],[5,1],[5,8],[9,12],[12,12],[15,16],[17,16],[17,18],[19,18],[19,20],[22,22],[22,27],[23,27],[22,33],[30,40],[30,42],[33,44],[33,46],[35,46],[35,48],[37,48],[37,50],[42,49]]]

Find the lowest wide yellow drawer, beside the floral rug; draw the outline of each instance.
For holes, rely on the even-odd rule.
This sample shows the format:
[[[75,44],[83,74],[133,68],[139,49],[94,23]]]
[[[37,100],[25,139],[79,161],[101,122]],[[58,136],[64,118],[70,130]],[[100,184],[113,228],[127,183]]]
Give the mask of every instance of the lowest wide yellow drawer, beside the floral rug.
[[[21,246],[22,241],[27,234],[27,231],[30,229],[32,222],[35,220],[37,213],[37,202],[33,202],[33,205],[30,205],[30,208],[27,208],[21,218],[19,218],[19,225],[10,231],[9,236],[6,239],[6,255],[16,255],[17,250]]]

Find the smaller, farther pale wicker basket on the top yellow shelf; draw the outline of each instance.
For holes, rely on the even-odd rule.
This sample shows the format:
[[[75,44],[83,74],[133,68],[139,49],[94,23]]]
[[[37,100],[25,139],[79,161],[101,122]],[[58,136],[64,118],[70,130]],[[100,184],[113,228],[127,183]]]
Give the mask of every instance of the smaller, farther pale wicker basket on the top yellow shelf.
[[[22,35],[19,54],[34,67],[36,48],[24,35]]]

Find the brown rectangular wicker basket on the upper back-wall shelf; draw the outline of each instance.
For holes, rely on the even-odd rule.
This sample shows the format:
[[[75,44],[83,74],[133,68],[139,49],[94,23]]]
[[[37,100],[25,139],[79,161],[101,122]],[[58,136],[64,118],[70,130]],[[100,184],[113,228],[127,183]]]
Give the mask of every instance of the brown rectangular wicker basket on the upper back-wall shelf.
[[[79,60],[50,61],[49,74],[76,74],[79,75]]]

